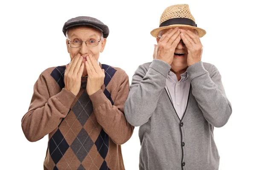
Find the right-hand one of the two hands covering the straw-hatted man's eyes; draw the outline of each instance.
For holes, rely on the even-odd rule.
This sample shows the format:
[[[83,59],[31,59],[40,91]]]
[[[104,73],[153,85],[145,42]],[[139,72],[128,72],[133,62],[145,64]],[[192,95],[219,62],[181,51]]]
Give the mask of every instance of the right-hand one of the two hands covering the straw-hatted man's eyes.
[[[186,48],[188,49],[187,64],[188,66],[201,61],[203,53],[203,45],[197,34],[192,31],[180,30],[181,39],[183,40]]]

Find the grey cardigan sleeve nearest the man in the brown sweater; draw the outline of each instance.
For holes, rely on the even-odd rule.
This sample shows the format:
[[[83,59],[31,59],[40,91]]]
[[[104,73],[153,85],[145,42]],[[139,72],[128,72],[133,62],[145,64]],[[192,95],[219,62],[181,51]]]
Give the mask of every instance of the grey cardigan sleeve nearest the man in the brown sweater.
[[[144,64],[137,68],[125,102],[125,116],[131,125],[141,126],[148,122],[166,86],[170,69],[171,66],[160,59],[154,59],[149,67]]]

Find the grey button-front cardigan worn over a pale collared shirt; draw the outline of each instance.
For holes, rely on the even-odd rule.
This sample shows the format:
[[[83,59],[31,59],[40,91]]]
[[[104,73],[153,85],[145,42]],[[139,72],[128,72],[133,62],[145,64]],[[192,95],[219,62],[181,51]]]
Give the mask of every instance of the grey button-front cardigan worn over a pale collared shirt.
[[[140,65],[124,105],[128,122],[140,126],[140,170],[218,170],[213,130],[232,113],[221,75],[209,63],[187,68],[191,86],[180,120],[165,89],[170,68],[159,59]]]

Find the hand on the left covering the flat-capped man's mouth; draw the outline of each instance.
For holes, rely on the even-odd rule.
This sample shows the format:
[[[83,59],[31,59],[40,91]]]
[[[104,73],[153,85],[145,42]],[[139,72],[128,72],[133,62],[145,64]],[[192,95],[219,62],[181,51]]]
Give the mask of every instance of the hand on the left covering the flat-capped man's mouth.
[[[84,71],[84,63],[82,63],[82,61],[83,57],[81,57],[80,54],[77,54],[70,64],[66,65],[64,73],[64,88],[71,91],[74,95],[79,93],[81,87],[81,76]]]

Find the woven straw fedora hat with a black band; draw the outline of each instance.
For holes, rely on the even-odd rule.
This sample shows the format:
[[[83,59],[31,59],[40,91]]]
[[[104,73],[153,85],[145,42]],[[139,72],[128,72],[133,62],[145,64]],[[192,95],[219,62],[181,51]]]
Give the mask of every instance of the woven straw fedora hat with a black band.
[[[199,37],[203,37],[206,34],[204,29],[197,27],[195,18],[192,16],[187,4],[167,7],[160,18],[159,28],[153,29],[150,34],[153,37],[157,37],[161,30],[174,27],[193,28],[198,32]]]

